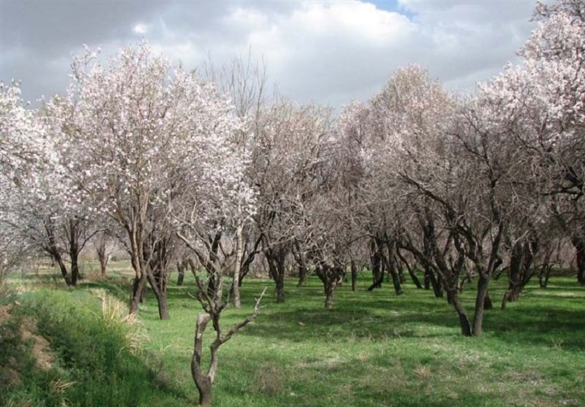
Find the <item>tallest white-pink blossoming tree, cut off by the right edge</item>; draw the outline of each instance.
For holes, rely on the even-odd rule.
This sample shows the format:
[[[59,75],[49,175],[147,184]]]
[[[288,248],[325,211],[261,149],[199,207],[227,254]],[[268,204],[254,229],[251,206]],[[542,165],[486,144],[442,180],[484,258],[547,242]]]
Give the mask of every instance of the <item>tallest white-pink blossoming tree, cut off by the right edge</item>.
[[[585,284],[585,2],[539,3],[538,28],[520,49],[520,65],[509,65],[480,88],[493,105],[507,143],[526,163],[524,182],[541,198],[556,224],[571,238],[577,278]],[[547,202],[548,200],[548,202]]]

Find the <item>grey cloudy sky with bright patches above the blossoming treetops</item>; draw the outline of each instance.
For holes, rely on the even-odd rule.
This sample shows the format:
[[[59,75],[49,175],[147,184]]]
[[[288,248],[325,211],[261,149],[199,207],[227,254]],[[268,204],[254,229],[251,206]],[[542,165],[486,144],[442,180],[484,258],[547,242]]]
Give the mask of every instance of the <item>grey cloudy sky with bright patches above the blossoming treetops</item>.
[[[0,79],[23,98],[64,92],[83,44],[111,54],[145,37],[189,68],[207,55],[263,56],[270,80],[299,102],[368,98],[418,63],[467,92],[508,61],[534,28],[532,0],[0,0]]]

